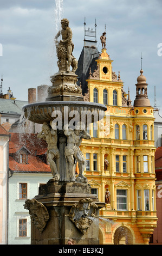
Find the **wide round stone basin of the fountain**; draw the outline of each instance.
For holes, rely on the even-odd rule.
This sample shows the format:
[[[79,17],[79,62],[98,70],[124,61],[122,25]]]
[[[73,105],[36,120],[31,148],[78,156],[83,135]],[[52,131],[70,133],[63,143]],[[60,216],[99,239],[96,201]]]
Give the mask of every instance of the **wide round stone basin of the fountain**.
[[[25,118],[43,124],[52,120],[59,120],[62,126],[70,120],[83,121],[86,125],[101,120],[107,107],[100,103],[80,101],[46,101],[25,105]]]

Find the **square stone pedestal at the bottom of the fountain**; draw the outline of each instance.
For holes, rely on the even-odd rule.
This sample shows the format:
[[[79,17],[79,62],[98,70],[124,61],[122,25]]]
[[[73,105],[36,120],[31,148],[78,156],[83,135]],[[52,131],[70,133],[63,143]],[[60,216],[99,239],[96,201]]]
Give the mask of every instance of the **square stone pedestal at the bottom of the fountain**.
[[[68,239],[74,239],[78,245],[99,244],[99,209],[105,203],[90,193],[87,183],[57,183],[51,179],[40,186],[34,199],[46,207],[49,220],[42,232],[31,221],[31,245],[67,245]],[[88,221],[85,230],[81,218]]]

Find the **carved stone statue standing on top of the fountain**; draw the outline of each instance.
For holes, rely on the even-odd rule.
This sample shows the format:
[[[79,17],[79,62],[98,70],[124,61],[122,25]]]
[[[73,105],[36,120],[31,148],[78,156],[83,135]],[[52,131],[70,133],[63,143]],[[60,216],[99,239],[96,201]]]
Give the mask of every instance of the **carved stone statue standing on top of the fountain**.
[[[74,44],[72,41],[73,33],[72,29],[69,28],[68,19],[62,19],[61,26],[61,32],[59,31],[55,36],[57,58],[59,59],[57,65],[59,66],[60,71],[70,72],[70,66],[72,66],[72,72],[75,72],[77,69],[77,60],[74,58],[72,54],[74,49]],[[57,39],[60,35],[62,35],[62,40],[60,40],[59,42],[57,41]]]

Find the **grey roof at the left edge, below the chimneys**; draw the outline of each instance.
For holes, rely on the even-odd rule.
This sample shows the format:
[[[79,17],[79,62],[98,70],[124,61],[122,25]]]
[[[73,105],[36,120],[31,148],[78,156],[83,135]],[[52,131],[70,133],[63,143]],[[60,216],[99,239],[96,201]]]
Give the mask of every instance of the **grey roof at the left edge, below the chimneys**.
[[[21,115],[22,107],[27,104],[28,101],[0,99],[0,113]]]

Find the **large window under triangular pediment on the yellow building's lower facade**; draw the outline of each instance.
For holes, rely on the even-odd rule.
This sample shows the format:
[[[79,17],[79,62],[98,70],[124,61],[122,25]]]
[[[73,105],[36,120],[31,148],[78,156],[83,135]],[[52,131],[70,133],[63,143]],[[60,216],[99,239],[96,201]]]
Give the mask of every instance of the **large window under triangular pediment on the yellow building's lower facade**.
[[[117,210],[127,210],[127,191],[116,190]]]

